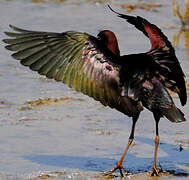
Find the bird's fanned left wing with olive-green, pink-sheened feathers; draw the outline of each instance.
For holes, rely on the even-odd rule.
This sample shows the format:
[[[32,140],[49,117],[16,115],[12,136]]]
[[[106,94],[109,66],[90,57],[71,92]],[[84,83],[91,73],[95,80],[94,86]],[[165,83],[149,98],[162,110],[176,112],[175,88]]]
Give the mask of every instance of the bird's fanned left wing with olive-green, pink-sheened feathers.
[[[13,38],[3,41],[9,44],[6,49],[16,51],[12,57],[21,64],[66,83],[105,106],[119,109],[124,105],[118,105],[119,67],[113,63],[117,57],[109,51],[111,56],[105,53],[97,38],[75,31],[50,33],[10,27],[17,32],[5,32]]]

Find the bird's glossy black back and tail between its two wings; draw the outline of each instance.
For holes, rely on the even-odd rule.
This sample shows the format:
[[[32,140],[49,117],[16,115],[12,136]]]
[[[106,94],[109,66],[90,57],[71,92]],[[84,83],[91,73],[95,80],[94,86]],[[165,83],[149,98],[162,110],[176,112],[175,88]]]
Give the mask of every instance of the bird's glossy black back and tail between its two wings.
[[[125,55],[121,58],[123,63],[126,62],[120,70],[122,96],[142,102],[144,107],[158,113],[159,117],[165,116],[172,122],[185,121],[184,113],[175,106],[157,67],[152,65],[146,54]]]

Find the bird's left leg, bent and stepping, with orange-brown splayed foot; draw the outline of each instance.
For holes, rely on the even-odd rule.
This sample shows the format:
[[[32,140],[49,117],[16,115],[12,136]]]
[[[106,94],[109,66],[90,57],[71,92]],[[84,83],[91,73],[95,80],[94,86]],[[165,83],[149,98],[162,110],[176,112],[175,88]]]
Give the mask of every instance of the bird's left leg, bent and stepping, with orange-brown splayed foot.
[[[135,117],[135,118],[133,117],[133,124],[132,124],[131,134],[130,134],[130,137],[129,137],[129,140],[128,140],[128,144],[127,144],[126,148],[124,149],[123,154],[122,154],[120,160],[118,161],[118,163],[116,164],[116,166],[115,166],[114,168],[110,169],[109,171],[104,172],[104,173],[103,173],[104,176],[107,176],[107,175],[112,174],[112,173],[115,172],[117,169],[120,170],[120,174],[121,174],[122,177],[123,177],[123,175],[124,175],[123,172],[126,173],[126,170],[125,170],[125,168],[123,167],[122,163],[123,163],[124,157],[125,157],[125,155],[126,155],[128,149],[129,149],[130,145],[131,145],[132,142],[133,142],[133,139],[134,139],[134,132],[135,132],[135,124],[136,124],[136,122],[137,122],[137,119],[138,119],[138,116]]]

